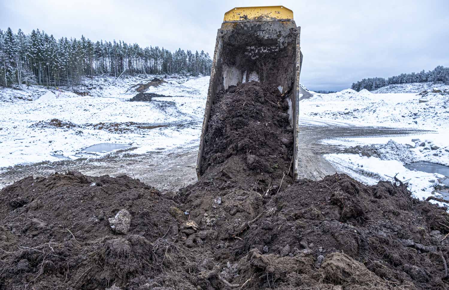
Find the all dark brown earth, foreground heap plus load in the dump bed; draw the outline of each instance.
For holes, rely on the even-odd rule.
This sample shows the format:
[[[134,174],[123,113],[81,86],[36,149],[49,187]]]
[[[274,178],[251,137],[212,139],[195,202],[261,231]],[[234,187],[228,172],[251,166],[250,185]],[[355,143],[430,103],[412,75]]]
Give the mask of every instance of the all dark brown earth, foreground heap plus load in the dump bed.
[[[4,188],[0,289],[447,289],[446,208],[399,180],[293,180],[283,98],[221,92],[202,178],[175,193],[79,172]]]

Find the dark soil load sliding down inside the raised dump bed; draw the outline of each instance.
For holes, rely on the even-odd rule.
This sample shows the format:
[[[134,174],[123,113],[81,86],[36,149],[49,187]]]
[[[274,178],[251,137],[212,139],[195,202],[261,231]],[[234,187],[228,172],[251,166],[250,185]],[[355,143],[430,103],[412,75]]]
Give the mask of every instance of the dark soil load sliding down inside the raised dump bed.
[[[293,128],[277,88],[241,83],[217,93],[201,163],[202,180],[222,175],[269,190],[293,174]],[[263,190],[262,190],[263,191]]]

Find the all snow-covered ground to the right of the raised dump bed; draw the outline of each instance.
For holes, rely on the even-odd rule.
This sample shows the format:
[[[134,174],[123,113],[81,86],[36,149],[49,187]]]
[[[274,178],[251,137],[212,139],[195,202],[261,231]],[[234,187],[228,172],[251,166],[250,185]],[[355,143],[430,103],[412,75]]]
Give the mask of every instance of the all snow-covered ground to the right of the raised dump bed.
[[[346,89],[331,94],[314,93],[301,101],[300,116],[334,121],[335,125],[344,122],[354,126],[410,128],[414,132],[405,136],[342,137],[321,142],[348,149],[349,154],[325,155],[340,171],[368,184],[396,176],[409,182],[416,198],[425,199],[432,194],[438,196],[434,187],[445,176],[410,170],[405,165],[426,161],[449,166],[449,86],[440,84],[439,92],[434,90],[436,85],[418,83],[388,86],[374,92]],[[423,94],[424,90],[428,92]]]

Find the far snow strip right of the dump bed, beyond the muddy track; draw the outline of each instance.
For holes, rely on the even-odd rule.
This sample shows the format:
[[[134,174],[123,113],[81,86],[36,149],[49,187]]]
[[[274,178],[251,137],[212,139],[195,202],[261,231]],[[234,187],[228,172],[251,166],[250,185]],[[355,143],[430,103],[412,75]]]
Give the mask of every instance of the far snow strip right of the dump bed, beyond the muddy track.
[[[432,92],[426,96],[416,93],[372,93],[352,89],[330,94],[314,93],[313,97],[300,102],[299,115],[356,126],[435,130],[449,127],[449,95]]]

